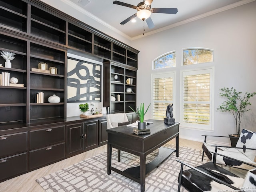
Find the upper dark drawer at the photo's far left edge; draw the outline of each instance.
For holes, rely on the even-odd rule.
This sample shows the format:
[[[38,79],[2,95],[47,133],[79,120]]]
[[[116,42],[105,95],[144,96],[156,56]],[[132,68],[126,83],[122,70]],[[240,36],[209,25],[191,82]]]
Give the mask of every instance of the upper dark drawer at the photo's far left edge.
[[[28,132],[0,136],[0,158],[26,152]]]

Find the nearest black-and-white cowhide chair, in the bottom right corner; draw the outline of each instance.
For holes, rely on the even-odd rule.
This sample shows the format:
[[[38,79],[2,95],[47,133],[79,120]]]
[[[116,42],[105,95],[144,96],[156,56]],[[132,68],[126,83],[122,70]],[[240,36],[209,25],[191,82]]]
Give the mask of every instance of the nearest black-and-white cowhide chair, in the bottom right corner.
[[[230,158],[215,152],[212,153],[214,156],[217,155]],[[241,178],[218,166],[215,162],[207,162],[200,166],[193,167],[180,160],[177,161],[181,163],[180,174],[178,177],[178,192],[180,192],[181,186],[183,186],[189,192],[256,192],[255,165],[250,165],[254,168],[247,172],[245,178]],[[190,169],[183,170],[184,166],[187,166]]]

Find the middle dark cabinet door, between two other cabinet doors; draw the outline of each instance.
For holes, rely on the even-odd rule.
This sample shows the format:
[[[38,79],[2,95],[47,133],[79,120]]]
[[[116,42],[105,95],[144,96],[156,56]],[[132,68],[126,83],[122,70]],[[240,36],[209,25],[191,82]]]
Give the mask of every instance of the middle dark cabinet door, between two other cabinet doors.
[[[84,123],[84,150],[98,147],[98,120]]]

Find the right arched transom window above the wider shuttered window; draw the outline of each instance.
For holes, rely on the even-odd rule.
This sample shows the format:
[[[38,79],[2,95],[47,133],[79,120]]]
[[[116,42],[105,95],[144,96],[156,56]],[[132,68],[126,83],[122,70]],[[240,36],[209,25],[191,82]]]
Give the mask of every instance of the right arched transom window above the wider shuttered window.
[[[213,51],[210,49],[193,48],[183,50],[183,65],[206,63],[213,61]]]

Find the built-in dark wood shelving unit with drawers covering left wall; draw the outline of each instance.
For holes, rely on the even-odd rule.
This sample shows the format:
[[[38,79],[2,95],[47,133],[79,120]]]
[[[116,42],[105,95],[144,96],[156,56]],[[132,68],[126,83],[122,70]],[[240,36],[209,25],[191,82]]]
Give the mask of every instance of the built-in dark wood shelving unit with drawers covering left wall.
[[[136,106],[139,51],[40,0],[0,0],[0,50],[15,54],[12,68],[0,67],[0,74],[10,72],[24,84],[0,86],[0,182],[106,144],[105,117],[66,118],[68,51],[104,62],[104,106],[111,112]],[[40,62],[57,74],[32,69]],[[120,82],[111,82],[114,75]],[[134,93],[126,93],[129,87]],[[43,103],[36,102],[38,92],[44,92]],[[53,94],[59,103],[48,102]],[[120,101],[111,102],[111,94]]]

